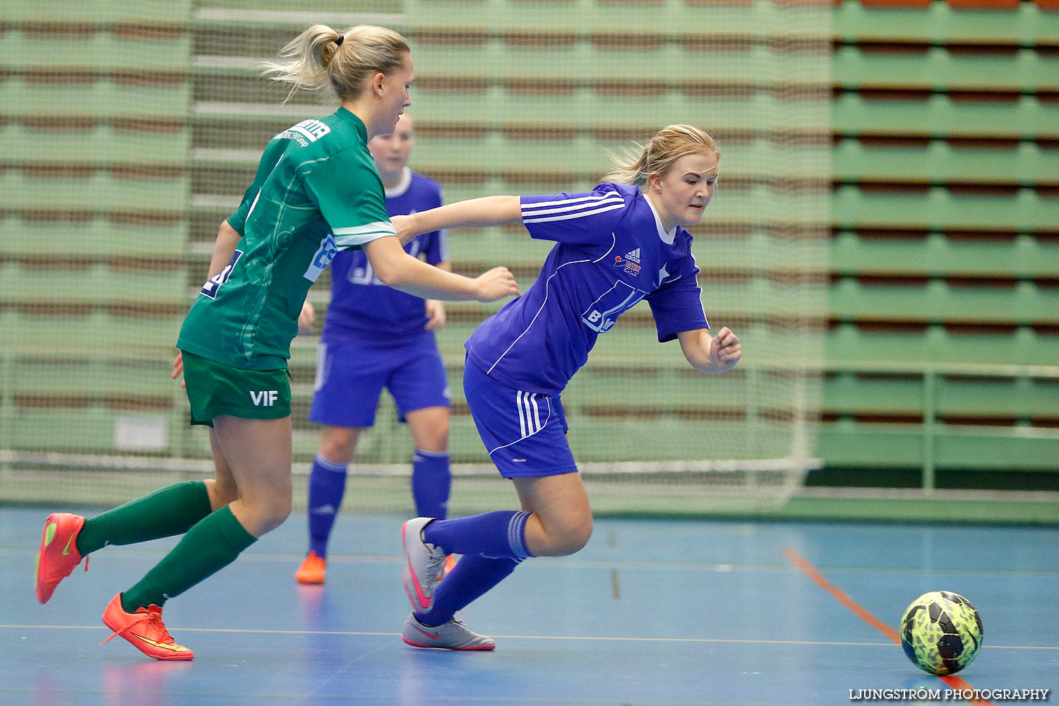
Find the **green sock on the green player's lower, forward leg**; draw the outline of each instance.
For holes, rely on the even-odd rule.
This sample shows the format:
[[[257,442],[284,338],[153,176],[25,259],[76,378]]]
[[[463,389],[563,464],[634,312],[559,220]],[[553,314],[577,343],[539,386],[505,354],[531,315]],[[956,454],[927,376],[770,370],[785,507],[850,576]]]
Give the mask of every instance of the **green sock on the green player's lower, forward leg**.
[[[184,538],[139,583],[122,594],[122,608],[131,613],[179,596],[235,561],[256,542],[226,505],[187,530]]]

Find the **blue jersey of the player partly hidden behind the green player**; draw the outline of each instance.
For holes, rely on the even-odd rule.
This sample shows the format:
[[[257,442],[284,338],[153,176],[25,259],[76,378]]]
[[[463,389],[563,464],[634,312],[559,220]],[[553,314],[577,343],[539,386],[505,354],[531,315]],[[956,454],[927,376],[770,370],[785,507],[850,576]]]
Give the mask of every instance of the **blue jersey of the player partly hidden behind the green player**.
[[[417,213],[442,205],[442,187],[432,179],[405,167],[400,183],[385,189],[391,216]],[[416,236],[405,251],[430,265],[447,263],[444,231]],[[400,342],[421,336],[427,325],[426,303],[382,284],[363,251],[341,252],[331,260],[331,300],[321,340],[325,343],[380,338]]]

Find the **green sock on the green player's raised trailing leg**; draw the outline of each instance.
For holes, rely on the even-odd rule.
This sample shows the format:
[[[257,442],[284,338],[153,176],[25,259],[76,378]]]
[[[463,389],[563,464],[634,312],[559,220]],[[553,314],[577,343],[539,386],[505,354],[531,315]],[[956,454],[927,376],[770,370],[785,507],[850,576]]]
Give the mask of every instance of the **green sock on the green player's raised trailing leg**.
[[[77,533],[77,550],[84,556],[108,544],[136,544],[183,535],[211,511],[204,483],[175,483],[86,520]]]

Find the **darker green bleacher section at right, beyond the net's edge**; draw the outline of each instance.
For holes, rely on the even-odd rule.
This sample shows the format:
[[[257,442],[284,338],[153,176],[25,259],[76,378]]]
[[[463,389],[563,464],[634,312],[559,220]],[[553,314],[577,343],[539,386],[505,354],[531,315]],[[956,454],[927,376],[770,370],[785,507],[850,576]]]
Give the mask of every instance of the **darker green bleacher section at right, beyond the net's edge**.
[[[1055,488],[1059,14],[974,4],[834,7],[820,454]]]

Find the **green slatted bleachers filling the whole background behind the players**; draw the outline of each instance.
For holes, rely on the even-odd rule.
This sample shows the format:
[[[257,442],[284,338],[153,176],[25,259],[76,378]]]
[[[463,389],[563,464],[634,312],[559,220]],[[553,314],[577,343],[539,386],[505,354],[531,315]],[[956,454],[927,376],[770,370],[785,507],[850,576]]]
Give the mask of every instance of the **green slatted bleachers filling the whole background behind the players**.
[[[927,489],[959,485],[964,472],[1025,471],[1039,478],[1029,487],[1055,488],[1059,12],[1047,1],[1007,4],[836,2],[829,134],[804,112],[782,127],[767,119],[820,58],[791,52],[778,75],[755,71],[779,34],[764,0],[749,3],[769,30],[760,34],[693,0],[325,0],[313,11],[336,25],[357,13],[393,19],[411,39],[413,166],[450,201],[584,188],[606,170],[606,152],[630,139],[675,122],[710,127],[724,173],[697,255],[707,313],[736,328],[748,350],[780,349],[785,316],[796,314],[784,310],[782,275],[784,248],[798,245],[766,228],[784,202],[756,175],[789,168],[792,184],[829,180],[830,194],[818,197],[831,231],[822,268],[830,277],[823,482],[832,468],[867,481],[880,468],[915,471]],[[277,0],[26,7],[0,31],[0,448],[37,449],[48,428],[56,451],[107,453],[115,420],[132,414],[167,430],[163,446],[140,452],[205,457],[204,435],[186,429],[185,402],[165,375],[167,357],[262,146],[321,110],[311,95],[281,105],[285,90],[254,68],[303,18]],[[714,69],[707,56],[729,59]],[[525,96],[533,101],[513,99]],[[785,134],[830,138],[829,174],[800,171],[797,159],[777,169]],[[503,261],[521,282],[546,249],[505,229],[452,235],[457,271]],[[714,286],[732,271],[743,278]],[[310,293],[321,320],[327,276]],[[773,309],[759,310],[761,302]],[[449,306],[439,341],[454,391],[462,343],[491,310]],[[302,460],[319,440],[305,419],[315,347],[299,340],[292,350]],[[707,381],[717,417],[696,405],[701,386],[642,409],[623,392],[627,382],[674,385],[686,375],[676,347],[661,350],[643,308],[608,334],[598,365],[571,388],[575,448],[625,443],[644,414],[661,449],[696,438],[703,423],[783,416],[750,384],[782,381],[782,357]],[[453,458],[479,463],[459,394],[454,403]],[[407,436],[392,417],[384,401],[358,450],[363,461],[401,463],[408,450],[381,441]],[[579,436],[589,429],[592,439]]]

